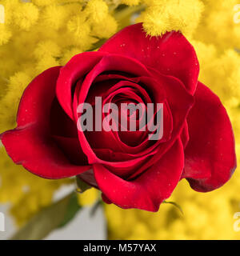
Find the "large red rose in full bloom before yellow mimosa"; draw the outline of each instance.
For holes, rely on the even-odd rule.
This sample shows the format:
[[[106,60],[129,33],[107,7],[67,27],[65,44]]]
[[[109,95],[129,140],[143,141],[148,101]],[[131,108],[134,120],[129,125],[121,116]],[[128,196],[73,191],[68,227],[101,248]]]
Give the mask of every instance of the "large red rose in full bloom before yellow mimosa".
[[[222,186],[236,167],[234,134],[219,98],[198,82],[194,48],[178,32],[146,36],[128,26],[97,52],[38,75],[27,86],[18,127],[2,134],[14,162],[43,178],[79,175],[122,208],[157,211],[182,178],[198,191]],[[163,103],[163,136],[81,131],[78,105]],[[81,114],[80,114],[81,115]]]

